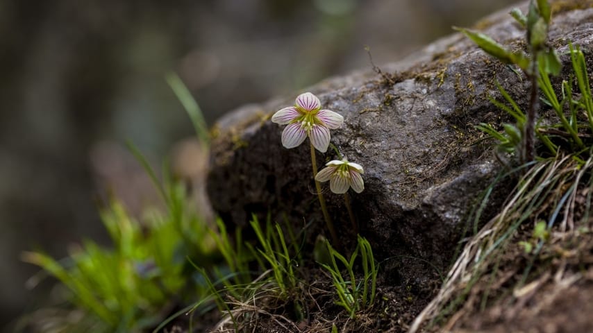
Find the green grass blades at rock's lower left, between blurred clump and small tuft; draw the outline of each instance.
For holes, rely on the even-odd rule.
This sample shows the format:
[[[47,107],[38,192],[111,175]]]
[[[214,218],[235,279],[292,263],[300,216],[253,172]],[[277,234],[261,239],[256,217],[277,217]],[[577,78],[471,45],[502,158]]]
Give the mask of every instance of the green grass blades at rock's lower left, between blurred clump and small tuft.
[[[303,305],[297,294],[300,286],[294,271],[294,268],[299,266],[299,255],[293,255],[290,251],[291,248],[298,249],[292,230],[287,226],[290,237],[290,241],[287,242],[283,229],[277,223],[273,224],[270,216],[267,216],[266,223],[262,226],[254,215],[251,227],[259,242],[259,246],[254,247],[242,241],[240,230],[235,231],[233,242],[221,220],[217,221],[217,227],[217,231],[212,230],[210,233],[226,262],[223,270],[219,267],[213,268],[214,275],[219,280],[213,282],[210,279],[212,273],[197,264],[194,264],[194,268],[206,281],[210,299],[216,302],[219,311],[226,316],[223,321],[228,322],[230,318],[232,322],[232,327],[225,324],[224,329],[238,331],[242,325],[253,320],[256,316],[253,307],[259,307],[260,300],[290,302],[294,314],[302,320]],[[260,271],[249,271],[249,265],[255,262],[259,264]],[[196,307],[198,305],[199,302]],[[246,305],[247,310],[243,308]]]

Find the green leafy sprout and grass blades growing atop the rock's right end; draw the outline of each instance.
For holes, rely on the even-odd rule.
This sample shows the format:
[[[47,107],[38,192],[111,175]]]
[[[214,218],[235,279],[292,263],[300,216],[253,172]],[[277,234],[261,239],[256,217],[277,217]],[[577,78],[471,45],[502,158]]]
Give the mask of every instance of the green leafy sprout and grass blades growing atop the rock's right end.
[[[530,78],[534,87],[539,87],[541,90],[543,94],[542,102],[545,105],[549,105],[549,107],[554,110],[559,120],[559,123],[552,123],[551,125],[535,123],[535,135],[537,135],[537,138],[540,139],[551,155],[556,155],[560,148],[565,148],[569,153],[579,151],[586,153],[588,147],[590,147],[593,142],[585,142],[584,138],[589,137],[590,135],[579,133],[579,130],[588,126],[591,133],[593,133],[593,99],[583,52],[578,49],[578,47],[575,49],[571,44],[569,45],[578,94],[572,92],[573,85],[571,82],[564,80],[562,82],[561,98],[559,98],[559,95],[552,86],[550,75],[560,74],[562,64],[554,49],[543,47],[547,38],[547,25],[550,22],[550,8],[547,1],[537,1],[537,6],[531,1],[527,17],[522,15],[519,10],[513,10],[511,15],[515,17],[519,23],[525,23],[528,28],[528,35],[531,36],[532,53],[537,57],[537,61],[535,61],[533,57],[529,60],[531,65],[528,67],[531,67],[532,65],[537,66],[535,70],[535,74],[537,75],[530,75]],[[487,38],[476,38],[475,35],[468,33],[464,29],[461,31],[466,33],[472,40],[476,41],[478,46],[481,46],[485,51],[488,52],[492,49],[491,46],[485,46],[485,43],[487,43],[488,40]],[[503,46],[496,47],[504,49]],[[499,50],[497,52],[506,54],[507,51]],[[496,53],[489,53],[493,56],[497,56]],[[508,62],[508,57],[504,54],[498,56],[498,58],[503,62]],[[513,63],[517,64],[517,62]],[[524,69],[523,64],[519,65],[519,67]],[[526,117],[526,112],[523,112],[517,106],[517,103],[512,100],[500,85],[497,84],[497,86],[508,104],[491,99],[492,103],[514,117],[517,121],[517,125],[503,124],[502,133],[488,123],[480,123],[476,128],[496,139],[499,142],[499,151],[515,153],[520,150],[520,143],[524,142],[526,124],[528,123],[529,117]],[[576,99],[576,96],[579,96],[579,98]],[[508,105],[510,105],[510,107]],[[530,109],[534,107],[534,105],[530,105]],[[579,114],[586,115],[587,124],[585,126],[579,121]],[[535,119],[530,121],[535,121]]]

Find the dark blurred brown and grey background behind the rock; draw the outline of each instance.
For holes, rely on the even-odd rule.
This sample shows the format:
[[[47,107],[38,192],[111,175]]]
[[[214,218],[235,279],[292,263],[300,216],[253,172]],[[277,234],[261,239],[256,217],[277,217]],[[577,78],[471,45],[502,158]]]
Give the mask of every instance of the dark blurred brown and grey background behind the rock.
[[[510,2],[0,0],[0,327],[49,287],[26,288],[37,268],[19,261],[23,250],[61,257],[85,237],[108,244],[101,191],[137,214],[153,202],[124,142],[158,164],[192,136],[167,71],[211,124],[370,69],[365,45],[377,65],[392,62]]]

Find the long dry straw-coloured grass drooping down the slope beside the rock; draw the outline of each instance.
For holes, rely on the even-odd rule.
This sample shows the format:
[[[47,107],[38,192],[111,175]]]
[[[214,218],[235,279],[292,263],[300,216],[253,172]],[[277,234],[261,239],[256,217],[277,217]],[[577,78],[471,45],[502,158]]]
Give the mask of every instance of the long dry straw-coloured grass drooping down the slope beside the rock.
[[[489,287],[479,286],[483,297],[481,307],[485,307],[492,300],[490,293],[496,290],[493,282],[500,279],[501,258],[509,248],[524,248],[524,241],[519,237],[521,230],[532,230],[527,239],[534,248],[533,253],[526,254],[530,256],[528,264],[520,274],[521,278],[513,284],[514,289],[521,289],[534,278],[533,264],[550,241],[550,234],[561,238],[574,232],[576,225],[587,225],[588,214],[577,212],[575,207],[590,207],[591,196],[585,197],[583,193],[590,192],[592,184],[583,182],[583,179],[585,175],[591,177],[593,174],[593,157],[584,163],[573,157],[549,157],[527,167],[501,212],[465,245],[439,293],[417,316],[410,332],[417,332],[427,321],[442,324],[445,318],[450,318],[447,325],[453,325],[458,314],[467,311],[460,305],[476,294],[478,282],[490,277],[487,278]],[[521,173],[519,169],[515,173]],[[545,223],[541,223],[542,220]]]

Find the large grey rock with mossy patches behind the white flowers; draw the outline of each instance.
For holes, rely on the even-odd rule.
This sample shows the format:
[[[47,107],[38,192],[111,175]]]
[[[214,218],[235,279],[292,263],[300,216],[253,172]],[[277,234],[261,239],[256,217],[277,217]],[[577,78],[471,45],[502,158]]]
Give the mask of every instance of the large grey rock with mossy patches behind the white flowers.
[[[551,44],[560,53],[572,41],[582,46],[587,61],[593,59],[591,7],[592,1],[553,2]],[[514,49],[524,47],[524,31],[508,10],[476,28]],[[569,58],[562,61],[566,76]],[[459,33],[381,71],[331,78],[306,90],[319,96],[323,108],[344,116],[342,128],[332,131],[332,143],[365,167],[365,191],[352,196],[361,233],[383,257],[408,254],[444,266],[465,216],[501,169],[492,153],[476,144],[483,135],[474,125],[509,120],[487,96],[501,100],[498,80],[525,107],[528,82]],[[247,105],[217,123],[208,193],[227,223],[244,225],[252,213],[269,211],[276,220],[286,213],[294,225],[312,221],[310,234],[324,230],[308,140],[283,148],[283,128],[269,121],[296,96]],[[335,157],[331,149],[317,153],[320,165]],[[353,239],[342,197],[326,193],[338,233]]]

